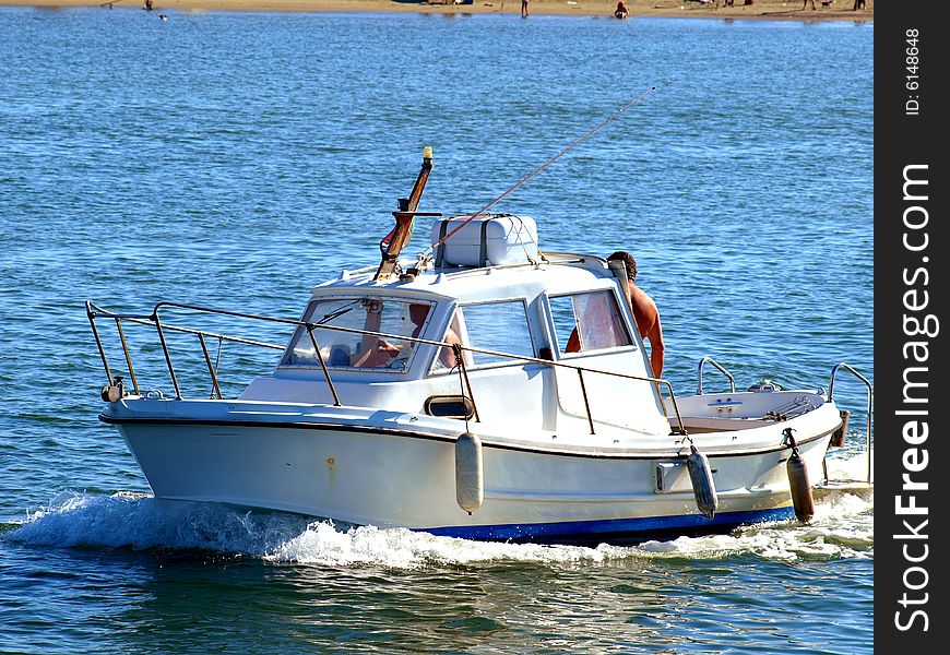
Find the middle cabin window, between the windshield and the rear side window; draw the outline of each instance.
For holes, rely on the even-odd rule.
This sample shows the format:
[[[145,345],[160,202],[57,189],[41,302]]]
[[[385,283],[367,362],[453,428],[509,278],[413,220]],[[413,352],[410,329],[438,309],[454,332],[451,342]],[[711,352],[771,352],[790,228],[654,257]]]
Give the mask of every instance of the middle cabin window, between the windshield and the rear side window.
[[[464,325],[465,334],[459,335],[463,344],[474,348],[534,357],[523,301],[467,305],[460,307],[458,312],[461,313],[458,324]],[[518,362],[516,359],[484,353],[471,353],[471,355],[474,366]]]

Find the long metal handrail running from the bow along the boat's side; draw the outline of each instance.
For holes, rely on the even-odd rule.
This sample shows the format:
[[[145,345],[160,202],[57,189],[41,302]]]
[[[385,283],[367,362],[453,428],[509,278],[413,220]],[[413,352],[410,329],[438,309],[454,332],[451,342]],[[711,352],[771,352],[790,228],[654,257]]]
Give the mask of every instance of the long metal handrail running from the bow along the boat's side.
[[[626,379],[626,380],[650,382],[652,384],[657,384],[657,385],[662,384],[669,392],[669,397],[673,402],[673,409],[674,409],[674,413],[676,414],[676,420],[677,420],[677,424],[679,426],[677,431],[680,434],[687,434],[686,427],[684,426],[684,422],[682,422],[682,416],[679,413],[679,406],[677,405],[677,402],[676,402],[676,394],[673,391],[673,385],[667,380],[664,380],[662,378],[651,378],[651,377],[645,377],[645,376],[631,376],[628,373],[617,373],[617,372],[613,372],[613,371],[603,371],[603,370],[575,366],[572,364],[563,364],[561,361],[553,361],[549,359],[541,359],[537,357],[527,357],[524,355],[512,355],[510,353],[502,353],[499,350],[489,350],[486,348],[476,348],[473,346],[462,346],[460,344],[450,344],[447,342],[431,341],[431,340],[426,340],[426,338],[405,336],[405,335],[401,335],[401,334],[389,334],[385,332],[373,332],[371,330],[358,330],[355,327],[343,327],[340,325],[318,325],[317,323],[313,323],[310,321],[300,321],[297,319],[281,319],[277,317],[264,317],[264,315],[260,315],[260,314],[252,314],[252,313],[239,312],[239,311],[229,311],[229,310],[224,310],[224,309],[213,309],[213,308],[207,308],[207,307],[199,307],[197,305],[186,305],[186,303],[181,303],[181,302],[167,302],[167,301],[158,302],[157,305],[155,305],[155,308],[151,314],[115,313],[115,312],[108,311],[106,309],[103,309],[103,308],[94,305],[93,302],[91,302],[88,300],[86,301],[85,305],[86,305],[86,315],[88,317],[90,323],[92,325],[93,334],[95,335],[95,338],[96,338],[96,345],[97,345],[98,350],[99,350],[99,356],[102,357],[102,360],[103,360],[103,366],[106,369],[106,377],[109,380],[109,384],[112,384],[114,380],[112,380],[111,371],[109,369],[108,360],[106,358],[105,348],[102,344],[102,340],[99,337],[99,333],[98,333],[98,330],[96,327],[95,321],[98,318],[117,319],[117,320],[121,319],[121,320],[126,320],[126,321],[129,321],[132,323],[151,325],[157,330],[158,335],[159,335],[159,342],[162,344],[162,349],[163,349],[163,353],[165,355],[165,360],[166,360],[166,364],[168,367],[168,372],[169,372],[169,376],[171,377],[173,386],[175,388],[175,396],[179,400],[182,398],[181,390],[178,385],[177,376],[175,374],[175,369],[174,369],[174,366],[171,364],[171,354],[168,350],[168,344],[164,337],[165,330],[175,331],[175,332],[183,332],[183,333],[188,333],[188,334],[195,334],[195,335],[198,335],[199,340],[202,342],[203,342],[204,337],[214,337],[214,338],[218,338],[218,340],[223,340],[223,341],[230,341],[230,342],[242,343],[242,344],[248,344],[248,345],[253,345],[253,346],[261,346],[261,347],[266,347],[266,348],[274,348],[274,349],[278,349],[278,350],[285,350],[286,346],[278,346],[278,345],[268,344],[264,342],[259,342],[259,341],[253,341],[253,340],[246,340],[246,338],[240,338],[240,337],[235,337],[235,336],[228,336],[225,334],[217,334],[217,333],[207,332],[207,331],[203,331],[203,330],[194,330],[191,327],[182,327],[180,325],[165,324],[165,323],[161,322],[159,317],[158,317],[158,310],[164,308],[164,307],[176,308],[176,309],[186,309],[186,310],[190,310],[190,311],[205,312],[205,313],[226,315],[226,317],[235,317],[235,318],[241,318],[241,319],[259,320],[259,321],[272,322],[272,323],[282,323],[282,324],[286,324],[286,325],[304,326],[308,331],[308,333],[310,334],[310,338],[311,338],[311,342],[313,344],[313,348],[318,354],[318,359],[320,361],[322,372],[323,372],[324,377],[326,378],[326,383],[330,386],[331,394],[333,395],[334,404],[337,406],[340,405],[340,397],[339,397],[336,390],[334,388],[333,380],[330,377],[330,371],[328,370],[325,362],[323,361],[322,355],[320,354],[320,348],[318,347],[317,340],[313,336],[312,331],[318,329],[318,327],[320,330],[330,330],[333,332],[345,332],[345,333],[351,333],[351,334],[376,336],[379,338],[397,340],[397,341],[404,341],[404,342],[409,342],[409,343],[414,343],[414,344],[424,344],[424,345],[429,345],[429,346],[448,347],[448,348],[452,348],[452,349],[455,349],[458,347],[458,348],[460,348],[462,350],[466,350],[468,353],[478,353],[482,355],[489,355],[492,357],[501,357],[501,358],[506,358],[506,359],[512,359],[515,361],[523,361],[526,364],[541,364],[544,366],[561,367],[561,368],[566,368],[566,369],[575,370],[578,372],[578,376],[580,377],[580,380],[581,380],[581,392],[584,396],[584,406],[585,406],[586,414],[587,414],[586,418],[587,418],[587,424],[590,425],[592,434],[594,433],[594,418],[593,418],[593,415],[591,412],[590,401],[587,398],[586,385],[583,383],[583,373],[596,373],[596,374],[609,376],[609,377],[614,377],[614,378],[621,378],[621,379]],[[203,343],[202,343],[202,345],[203,345]],[[131,354],[129,353],[129,349],[128,349],[128,346],[127,346],[124,340],[122,340],[122,348],[123,348],[123,352],[126,354],[127,361],[131,362]],[[221,391],[218,388],[217,378],[216,378],[216,374],[214,373],[214,367],[211,364],[211,358],[210,358],[210,355],[207,353],[207,348],[202,348],[202,349],[204,353],[205,362],[207,364],[209,371],[211,372],[211,376],[212,376],[212,382],[214,384],[214,389],[218,392],[218,397],[221,397],[221,395],[219,395]],[[463,373],[465,373],[465,376],[467,377],[467,372],[465,371],[464,359],[462,359],[462,361],[460,362],[460,366],[462,367]],[[732,376],[729,376],[729,378],[732,378]],[[470,384],[470,389],[471,389],[471,384]],[[135,385],[135,393],[139,393],[138,385]],[[212,397],[213,397],[213,394],[212,394]],[[661,394],[661,397],[662,397],[662,394]],[[474,401],[473,401],[473,403],[474,403]]]

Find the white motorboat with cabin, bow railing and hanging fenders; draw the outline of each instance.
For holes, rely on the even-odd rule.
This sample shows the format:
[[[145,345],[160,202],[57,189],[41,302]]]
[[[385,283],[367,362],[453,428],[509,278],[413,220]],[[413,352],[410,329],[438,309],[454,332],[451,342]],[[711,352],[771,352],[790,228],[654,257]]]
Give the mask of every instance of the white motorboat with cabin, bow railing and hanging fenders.
[[[835,373],[864,377],[841,364],[828,390],[737,391],[704,358],[698,393],[678,396],[650,372],[622,267],[539,250],[531,218],[439,218],[434,247],[400,262],[430,168],[427,152],[382,262],[319,284],[299,319],[171,302],[122,314],[87,302],[108,378],[100,419],[119,429],[159,501],[558,543],[810,517],[810,488],[847,422]],[[252,342],[173,324],[159,317],[169,308],[294,334],[273,370],[226,398],[206,341]],[[118,327],[121,377],[103,319]],[[167,393],[140,385],[130,323],[157,332]],[[211,397],[183,396],[169,331],[198,337]],[[703,392],[705,364],[728,391]]]

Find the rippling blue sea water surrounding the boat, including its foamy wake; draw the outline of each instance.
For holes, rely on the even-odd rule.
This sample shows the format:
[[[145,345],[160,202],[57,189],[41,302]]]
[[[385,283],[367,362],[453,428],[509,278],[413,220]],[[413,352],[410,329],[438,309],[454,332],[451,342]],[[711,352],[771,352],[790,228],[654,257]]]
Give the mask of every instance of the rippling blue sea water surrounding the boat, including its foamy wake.
[[[0,8],[0,652],[871,652],[872,498],[597,548],[163,513],[96,418],[83,302],[296,318],[377,263],[424,145],[420,209],[471,212],[655,86],[496,209],[546,250],[636,254],[677,393],[703,356],[744,386],[874,380],[872,45],[850,22]],[[272,359],[224,352],[227,389]],[[829,467],[860,477],[866,392],[835,398]]]

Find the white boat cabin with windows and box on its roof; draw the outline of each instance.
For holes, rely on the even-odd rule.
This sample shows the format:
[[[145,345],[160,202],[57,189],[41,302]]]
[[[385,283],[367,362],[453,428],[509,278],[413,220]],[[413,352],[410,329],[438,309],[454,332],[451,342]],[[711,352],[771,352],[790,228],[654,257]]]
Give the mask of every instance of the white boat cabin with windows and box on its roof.
[[[434,242],[458,219],[437,222]],[[343,406],[477,414],[553,432],[602,425],[668,433],[607,262],[539,252],[530,218],[471,223],[480,237],[447,241],[453,248],[437,249],[426,270],[388,279],[375,269],[348,271],[318,285],[276,370],[241,400],[331,403],[329,377]]]

